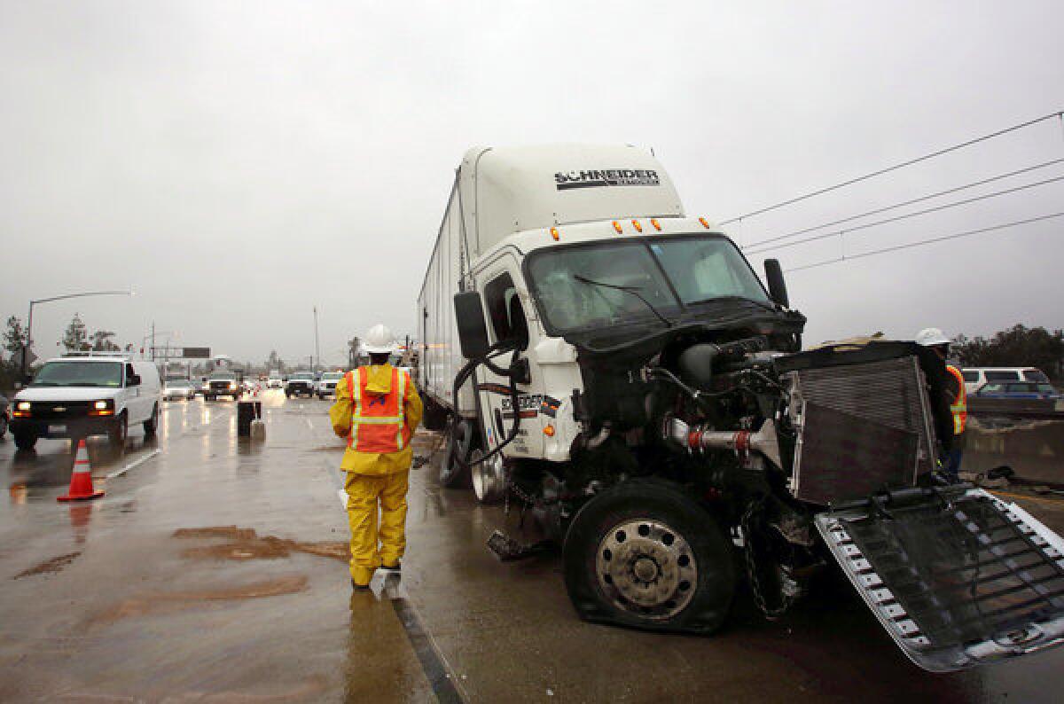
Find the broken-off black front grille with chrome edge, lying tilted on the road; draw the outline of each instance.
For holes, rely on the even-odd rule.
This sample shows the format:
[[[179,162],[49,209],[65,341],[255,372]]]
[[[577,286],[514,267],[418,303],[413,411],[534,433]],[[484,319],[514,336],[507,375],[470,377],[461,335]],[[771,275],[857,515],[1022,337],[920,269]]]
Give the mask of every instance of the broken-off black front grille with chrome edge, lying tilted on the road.
[[[968,485],[835,507],[816,527],[872,614],[932,672],[1064,642],[1064,540]]]

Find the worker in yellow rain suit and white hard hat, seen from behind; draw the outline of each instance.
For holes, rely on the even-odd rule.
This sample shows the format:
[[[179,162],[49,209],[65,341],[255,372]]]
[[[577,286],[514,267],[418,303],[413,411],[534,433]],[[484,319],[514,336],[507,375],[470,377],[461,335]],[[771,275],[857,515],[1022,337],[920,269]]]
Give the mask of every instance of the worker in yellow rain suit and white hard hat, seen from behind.
[[[406,549],[410,439],[421,421],[421,399],[410,374],[388,364],[395,347],[392,332],[373,325],[365,347],[369,365],[344,374],[336,384],[336,403],[329,409],[333,431],[347,438],[340,469],[347,472],[344,488],[355,589],[366,589],[378,567],[400,567]]]

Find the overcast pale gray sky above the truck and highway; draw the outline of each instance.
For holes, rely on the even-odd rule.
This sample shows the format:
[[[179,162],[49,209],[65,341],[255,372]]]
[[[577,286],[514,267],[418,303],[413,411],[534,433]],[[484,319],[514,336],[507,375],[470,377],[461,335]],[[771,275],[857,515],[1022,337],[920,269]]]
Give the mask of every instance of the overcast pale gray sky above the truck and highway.
[[[0,314],[132,287],[38,307],[38,353],[78,311],[121,342],[154,320],[261,362],[312,354],[317,305],[339,363],[373,322],[412,331],[472,145],[652,147],[688,214],[722,220],[1064,108],[1062,27],[1057,1],[3,0]],[[1060,157],[1049,121],[730,233],[752,242]],[[1059,211],[1060,182],[775,254],[801,266]],[[795,271],[791,298],[808,341],[1061,328],[1062,233],[1064,218]]]

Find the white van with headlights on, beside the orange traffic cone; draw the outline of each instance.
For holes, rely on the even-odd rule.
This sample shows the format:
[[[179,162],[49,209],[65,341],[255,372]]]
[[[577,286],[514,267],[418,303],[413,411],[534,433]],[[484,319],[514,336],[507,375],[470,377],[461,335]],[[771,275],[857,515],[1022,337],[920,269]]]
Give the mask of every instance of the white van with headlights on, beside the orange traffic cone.
[[[106,435],[123,447],[130,425],[155,433],[161,400],[153,363],[124,352],[70,353],[46,362],[15,395],[11,432],[19,450],[31,450],[41,437],[89,435]]]

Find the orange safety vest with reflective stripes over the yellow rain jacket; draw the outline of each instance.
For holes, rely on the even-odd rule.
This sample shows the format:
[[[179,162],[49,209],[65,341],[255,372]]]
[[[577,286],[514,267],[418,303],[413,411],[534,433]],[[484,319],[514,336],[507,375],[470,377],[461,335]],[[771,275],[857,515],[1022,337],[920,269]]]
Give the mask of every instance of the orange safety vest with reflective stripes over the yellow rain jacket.
[[[358,373],[358,381],[355,381]],[[403,402],[410,388],[410,374],[392,368],[392,389],[384,395],[368,393],[369,368],[347,372],[351,397],[351,434],[347,447],[358,452],[399,452],[410,445]]]

